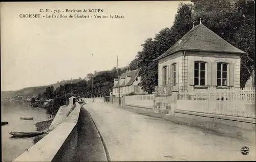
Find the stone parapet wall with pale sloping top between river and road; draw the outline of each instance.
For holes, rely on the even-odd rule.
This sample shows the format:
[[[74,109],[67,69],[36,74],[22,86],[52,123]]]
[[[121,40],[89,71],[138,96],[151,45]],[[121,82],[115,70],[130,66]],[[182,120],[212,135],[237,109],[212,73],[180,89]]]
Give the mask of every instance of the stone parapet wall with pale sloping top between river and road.
[[[76,102],[74,110],[61,124],[14,161],[72,161],[77,146],[80,110],[81,105]]]

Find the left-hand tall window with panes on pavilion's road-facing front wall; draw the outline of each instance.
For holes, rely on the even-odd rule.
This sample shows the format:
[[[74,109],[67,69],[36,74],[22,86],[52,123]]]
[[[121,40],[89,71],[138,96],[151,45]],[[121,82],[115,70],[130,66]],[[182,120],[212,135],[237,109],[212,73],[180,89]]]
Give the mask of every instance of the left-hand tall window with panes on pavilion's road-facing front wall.
[[[205,86],[205,63],[195,62],[195,86]]]

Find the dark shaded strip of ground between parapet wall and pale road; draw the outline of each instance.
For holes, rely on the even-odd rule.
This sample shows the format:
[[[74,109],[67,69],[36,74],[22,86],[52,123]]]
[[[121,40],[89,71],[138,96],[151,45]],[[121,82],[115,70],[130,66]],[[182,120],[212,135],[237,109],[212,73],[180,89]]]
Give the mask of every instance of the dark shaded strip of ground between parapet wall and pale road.
[[[105,150],[89,112],[81,107],[73,161],[107,161]]]

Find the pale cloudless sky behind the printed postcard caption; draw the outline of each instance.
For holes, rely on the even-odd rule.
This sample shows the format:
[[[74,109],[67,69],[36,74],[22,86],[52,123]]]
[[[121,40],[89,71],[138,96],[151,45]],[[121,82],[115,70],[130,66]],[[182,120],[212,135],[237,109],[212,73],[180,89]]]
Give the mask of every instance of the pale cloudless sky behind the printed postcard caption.
[[[117,67],[117,56],[119,67],[127,66],[147,38],[172,26],[181,2],[1,3],[1,90],[84,78],[95,70]],[[55,13],[93,16],[90,18],[46,18],[42,16],[54,13],[40,13],[40,9],[103,12]],[[41,18],[20,18],[20,14],[41,14]],[[95,14],[108,18],[94,18]]]

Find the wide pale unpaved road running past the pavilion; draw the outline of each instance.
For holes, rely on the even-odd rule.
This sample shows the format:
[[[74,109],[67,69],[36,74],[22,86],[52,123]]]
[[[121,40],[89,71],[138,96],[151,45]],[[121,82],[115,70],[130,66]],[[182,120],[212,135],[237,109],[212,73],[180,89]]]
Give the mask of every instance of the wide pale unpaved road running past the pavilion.
[[[89,102],[112,161],[255,160],[255,144],[140,115],[113,104]],[[250,148],[242,155],[243,146]]]

